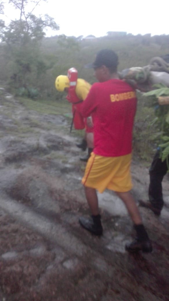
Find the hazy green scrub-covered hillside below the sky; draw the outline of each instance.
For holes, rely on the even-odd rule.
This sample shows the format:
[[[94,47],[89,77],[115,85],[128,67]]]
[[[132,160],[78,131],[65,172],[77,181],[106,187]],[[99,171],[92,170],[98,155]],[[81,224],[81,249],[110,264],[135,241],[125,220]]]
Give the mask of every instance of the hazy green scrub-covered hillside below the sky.
[[[112,48],[119,56],[119,71],[130,67],[143,67],[152,57],[168,53],[169,36],[127,35],[104,36],[94,39],[79,39],[67,36],[44,38],[38,45],[13,51],[0,43],[0,80],[8,81],[11,92],[18,88],[33,87],[39,98],[60,99],[54,88],[58,75],[66,74],[70,67],[78,70],[78,76],[93,83],[93,70],[84,65],[93,61],[98,50]]]

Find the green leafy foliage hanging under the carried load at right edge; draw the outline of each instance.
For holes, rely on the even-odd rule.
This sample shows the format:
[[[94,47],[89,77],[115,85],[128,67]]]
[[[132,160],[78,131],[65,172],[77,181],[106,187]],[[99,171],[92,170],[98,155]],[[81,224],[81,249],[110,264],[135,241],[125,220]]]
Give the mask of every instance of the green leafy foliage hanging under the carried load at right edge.
[[[159,129],[160,156],[162,162],[166,160],[169,172],[169,105],[158,104],[159,96],[169,96],[169,88],[162,84],[158,84],[156,87],[158,89],[147,92],[144,95],[149,97],[149,105],[155,107],[155,119],[153,120],[152,125],[157,125]]]

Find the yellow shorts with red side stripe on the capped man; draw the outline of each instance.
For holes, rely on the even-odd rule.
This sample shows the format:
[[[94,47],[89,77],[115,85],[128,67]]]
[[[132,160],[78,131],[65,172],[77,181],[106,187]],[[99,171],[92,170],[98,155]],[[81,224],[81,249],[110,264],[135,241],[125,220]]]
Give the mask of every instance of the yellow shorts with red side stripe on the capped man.
[[[102,193],[106,188],[127,192],[131,190],[131,154],[120,157],[102,157],[91,153],[81,183]]]

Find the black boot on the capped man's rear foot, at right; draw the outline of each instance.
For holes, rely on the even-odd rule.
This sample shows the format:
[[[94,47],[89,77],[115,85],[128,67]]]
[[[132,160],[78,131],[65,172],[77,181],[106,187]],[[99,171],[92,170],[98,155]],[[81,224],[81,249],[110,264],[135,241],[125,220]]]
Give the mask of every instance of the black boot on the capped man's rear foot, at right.
[[[137,237],[134,241],[129,244],[126,244],[125,249],[128,252],[138,252],[142,251],[145,253],[152,252],[152,244],[149,240],[146,229],[142,224],[134,225],[134,228],[137,232]]]

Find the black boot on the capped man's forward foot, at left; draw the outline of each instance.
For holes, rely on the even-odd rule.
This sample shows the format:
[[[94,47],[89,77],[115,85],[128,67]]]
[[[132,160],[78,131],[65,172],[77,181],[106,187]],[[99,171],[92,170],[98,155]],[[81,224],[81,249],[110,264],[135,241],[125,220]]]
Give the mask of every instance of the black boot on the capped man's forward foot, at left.
[[[94,235],[102,235],[103,233],[100,214],[96,216],[92,215],[91,219],[80,217],[79,223],[84,229],[88,230]]]

